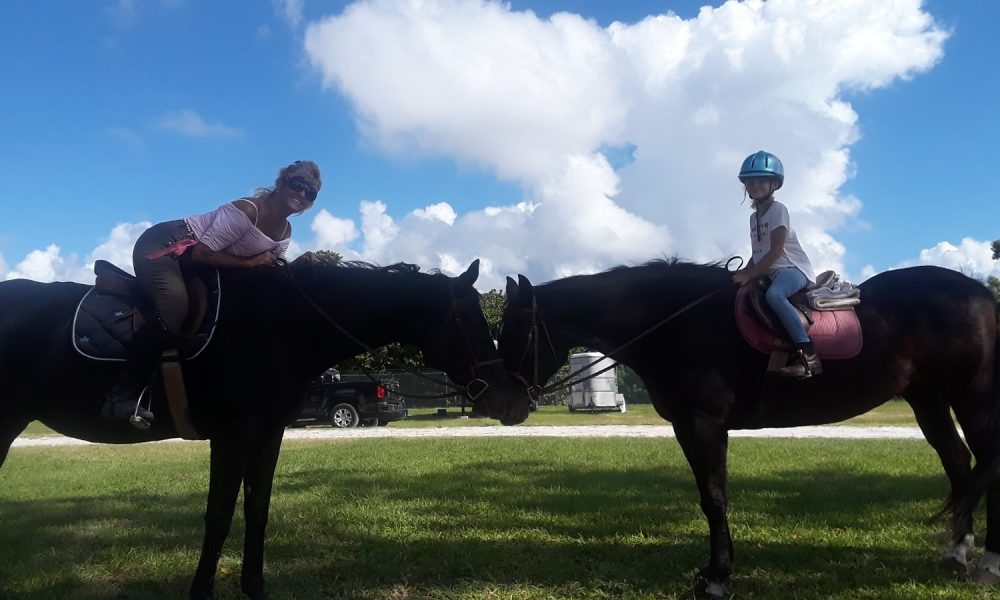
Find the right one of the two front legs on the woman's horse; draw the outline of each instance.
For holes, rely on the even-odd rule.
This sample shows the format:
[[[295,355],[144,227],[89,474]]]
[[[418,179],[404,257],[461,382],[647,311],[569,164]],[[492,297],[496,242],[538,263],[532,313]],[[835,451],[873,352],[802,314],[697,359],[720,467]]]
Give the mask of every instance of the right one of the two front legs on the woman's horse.
[[[252,599],[264,598],[264,530],[271,504],[271,484],[278,464],[281,438],[285,430],[278,425],[264,431],[257,439],[243,478],[243,514],[246,536],[243,540],[243,593]]]

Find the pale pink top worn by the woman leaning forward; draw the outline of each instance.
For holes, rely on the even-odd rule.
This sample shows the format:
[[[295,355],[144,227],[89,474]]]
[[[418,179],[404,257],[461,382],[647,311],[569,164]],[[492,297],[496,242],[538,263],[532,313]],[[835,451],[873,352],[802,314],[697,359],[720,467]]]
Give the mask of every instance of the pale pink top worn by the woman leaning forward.
[[[244,202],[249,202],[244,200]],[[255,256],[261,252],[274,252],[278,258],[285,256],[290,239],[274,241],[257,229],[242,210],[232,202],[202,215],[185,217],[194,239],[215,252],[234,256]]]

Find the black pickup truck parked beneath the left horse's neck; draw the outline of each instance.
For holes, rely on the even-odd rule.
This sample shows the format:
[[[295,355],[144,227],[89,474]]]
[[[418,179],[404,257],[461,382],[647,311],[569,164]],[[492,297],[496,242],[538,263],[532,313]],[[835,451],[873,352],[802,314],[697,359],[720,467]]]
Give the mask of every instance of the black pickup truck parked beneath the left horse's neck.
[[[323,377],[309,386],[302,410],[292,425],[374,427],[405,419],[407,414],[406,399],[400,395],[395,380],[338,381]]]

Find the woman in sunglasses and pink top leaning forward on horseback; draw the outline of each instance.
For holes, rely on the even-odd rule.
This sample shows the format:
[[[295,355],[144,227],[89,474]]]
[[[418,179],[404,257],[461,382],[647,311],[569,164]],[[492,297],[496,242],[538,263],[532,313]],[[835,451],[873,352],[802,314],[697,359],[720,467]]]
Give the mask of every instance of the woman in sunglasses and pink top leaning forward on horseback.
[[[298,160],[278,172],[274,187],[205,214],[153,225],[139,236],[132,265],[156,319],[136,331],[132,354],[108,392],[102,415],[141,429],[152,423],[153,413],[139,405],[139,396],[163,351],[182,336],[188,316],[185,265],[253,268],[283,258],[292,235],[288,217],[309,209],[321,185],[319,166]],[[296,262],[300,259],[312,260],[312,254]]]

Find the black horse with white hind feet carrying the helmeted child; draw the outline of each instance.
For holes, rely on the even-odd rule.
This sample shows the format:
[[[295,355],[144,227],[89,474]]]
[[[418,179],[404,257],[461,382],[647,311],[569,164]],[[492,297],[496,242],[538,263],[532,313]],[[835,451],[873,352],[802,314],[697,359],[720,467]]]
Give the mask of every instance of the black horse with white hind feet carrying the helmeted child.
[[[825,372],[805,381],[765,375],[768,356],[736,329],[736,291],[722,266],[677,260],[534,287],[523,276],[517,283],[508,278],[500,354],[529,389],[543,386],[576,346],[613,353],[642,378],[657,413],[673,423],[708,519],[711,558],[700,573],[700,596],[721,597],[732,572],[727,432],[842,421],[898,396],[913,408],[950,480],[954,546],[943,562],[964,571],[978,497],[963,494],[990,485],[987,467],[1000,453],[994,414],[997,305],[986,287],[937,267],[872,277],[861,285],[857,307],[861,353],[825,361]],[[988,552],[977,571],[980,581],[997,575],[996,554],[990,554],[1000,552],[996,492],[990,487],[987,494]]]

